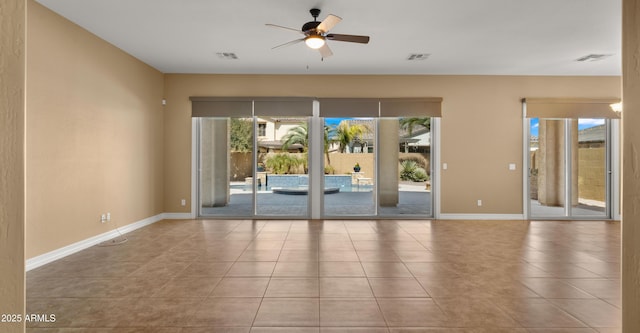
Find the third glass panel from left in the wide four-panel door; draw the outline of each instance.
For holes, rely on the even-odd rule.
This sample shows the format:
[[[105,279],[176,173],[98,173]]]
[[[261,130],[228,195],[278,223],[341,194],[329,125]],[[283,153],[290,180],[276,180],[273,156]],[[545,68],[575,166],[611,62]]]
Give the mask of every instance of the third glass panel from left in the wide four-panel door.
[[[376,215],[376,119],[325,118],[324,216]]]

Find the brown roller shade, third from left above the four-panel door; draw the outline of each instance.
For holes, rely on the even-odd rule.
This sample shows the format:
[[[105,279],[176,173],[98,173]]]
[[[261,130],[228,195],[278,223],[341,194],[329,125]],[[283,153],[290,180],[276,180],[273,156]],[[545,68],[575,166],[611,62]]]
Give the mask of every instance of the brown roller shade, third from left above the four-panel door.
[[[320,98],[320,117],[377,117],[379,100],[373,98]]]

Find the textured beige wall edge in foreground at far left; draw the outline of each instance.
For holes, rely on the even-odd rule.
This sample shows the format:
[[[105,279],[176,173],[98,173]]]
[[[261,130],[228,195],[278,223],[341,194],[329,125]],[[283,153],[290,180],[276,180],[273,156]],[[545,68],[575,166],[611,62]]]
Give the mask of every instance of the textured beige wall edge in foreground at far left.
[[[22,314],[24,292],[25,2],[0,0],[0,314]],[[23,332],[24,323],[0,322]]]

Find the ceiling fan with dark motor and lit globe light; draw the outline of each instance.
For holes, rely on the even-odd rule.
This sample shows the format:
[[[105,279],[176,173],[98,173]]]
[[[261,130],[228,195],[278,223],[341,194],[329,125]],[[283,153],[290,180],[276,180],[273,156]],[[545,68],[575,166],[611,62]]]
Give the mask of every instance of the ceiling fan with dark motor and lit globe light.
[[[305,44],[307,44],[307,46],[309,46],[310,48],[318,50],[322,58],[327,58],[333,55],[333,52],[331,52],[331,49],[326,43],[327,40],[361,44],[369,43],[369,36],[330,34],[329,30],[331,30],[336,24],[340,23],[340,21],[342,21],[342,18],[333,14],[329,14],[329,16],[322,20],[322,22],[319,22],[318,16],[320,15],[320,9],[313,8],[309,12],[311,13],[311,16],[313,16],[313,21],[307,22],[302,25],[302,28],[300,30],[283,27],[277,24],[267,24],[267,26],[269,27],[293,30],[304,35],[303,38],[274,46],[272,49],[289,46],[304,41]]]

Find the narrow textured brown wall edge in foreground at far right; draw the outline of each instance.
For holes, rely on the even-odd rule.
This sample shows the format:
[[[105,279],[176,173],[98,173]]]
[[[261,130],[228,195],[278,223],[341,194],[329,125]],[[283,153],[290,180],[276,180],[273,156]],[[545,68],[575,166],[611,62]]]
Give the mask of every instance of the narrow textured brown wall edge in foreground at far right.
[[[640,0],[622,1],[622,331],[640,332]]]

